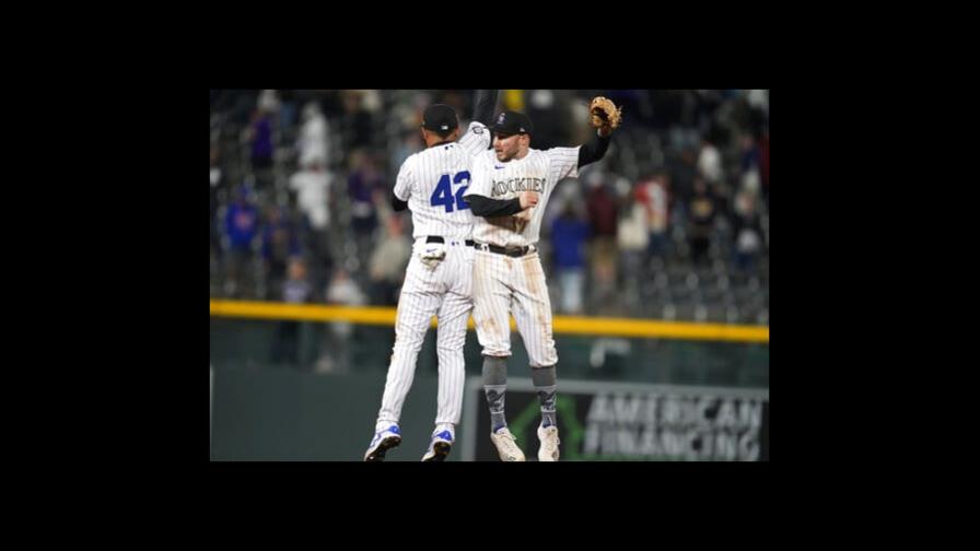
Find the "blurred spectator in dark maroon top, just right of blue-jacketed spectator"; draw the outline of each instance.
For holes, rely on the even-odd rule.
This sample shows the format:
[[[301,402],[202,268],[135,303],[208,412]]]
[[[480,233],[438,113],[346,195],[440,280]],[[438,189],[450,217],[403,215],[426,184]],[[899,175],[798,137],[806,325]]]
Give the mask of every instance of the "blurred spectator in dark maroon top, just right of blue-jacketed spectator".
[[[590,187],[585,202],[592,227],[590,248],[593,277],[593,302],[603,304],[616,291],[616,200],[607,189],[602,173],[593,171],[586,177]]]

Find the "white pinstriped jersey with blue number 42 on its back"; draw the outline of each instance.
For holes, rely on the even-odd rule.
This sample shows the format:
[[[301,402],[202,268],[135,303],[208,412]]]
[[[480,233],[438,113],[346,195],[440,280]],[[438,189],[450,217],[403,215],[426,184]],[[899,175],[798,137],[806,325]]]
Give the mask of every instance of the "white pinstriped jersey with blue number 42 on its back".
[[[474,121],[458,141],[429,148],[405,160],[395,181],[395,197],[408,202],[412,237],[471,237],[474,215],[463,196],[470,184],[474,155],[489,146],[490,131]]]

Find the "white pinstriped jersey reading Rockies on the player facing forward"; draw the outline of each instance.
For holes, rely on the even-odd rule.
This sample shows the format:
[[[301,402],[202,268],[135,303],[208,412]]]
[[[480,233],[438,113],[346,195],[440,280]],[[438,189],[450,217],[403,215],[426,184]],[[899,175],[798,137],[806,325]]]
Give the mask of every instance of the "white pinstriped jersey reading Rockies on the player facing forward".
[[[517,197],[520,191],[537,191],[537,206],[506,216],[476,216],[472,238],[501,247],[534,245],[540,237],[541,219],[555,185],[579,176],[579,146],[527,151],[524,159],[501,163],[490,150],[474,159],[472,183],[464,197],[480,195],[497,200]]]

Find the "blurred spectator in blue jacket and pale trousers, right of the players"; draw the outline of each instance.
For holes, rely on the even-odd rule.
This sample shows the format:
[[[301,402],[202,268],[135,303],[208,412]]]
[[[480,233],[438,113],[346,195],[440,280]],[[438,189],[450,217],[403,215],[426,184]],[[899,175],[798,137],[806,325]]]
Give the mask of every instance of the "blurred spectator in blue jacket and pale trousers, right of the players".
[[[580,218],[573,204],[565,203],[561,215],[551,223],[555,271],[561,290],[559,308],[565,314],[582,313],[586,238],[588,238],[588,224]]]

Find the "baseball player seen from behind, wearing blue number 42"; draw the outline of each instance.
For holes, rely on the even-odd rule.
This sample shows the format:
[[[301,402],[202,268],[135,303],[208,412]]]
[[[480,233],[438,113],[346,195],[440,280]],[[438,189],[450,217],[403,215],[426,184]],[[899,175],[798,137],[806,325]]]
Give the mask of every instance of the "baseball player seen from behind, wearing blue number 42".
[[[478,91],[474,121],[458,142],[456,112],[441,104],[425,109],[422,139],[427,149],[406,159],[398,171],[392,204],[396,211],[411,210],[415,245],[398,300],[395,348],[365,461],[383,461],[385,453],[401,443],[398,420],[433,315],[439,319],[439,410],[422,460],[445,460],[455,441],[454,427],[463,410],[463,345],[472,309],[474,216],[463,194],[469,186],[474,155],[490,148],[487,126],[498,92]]]

